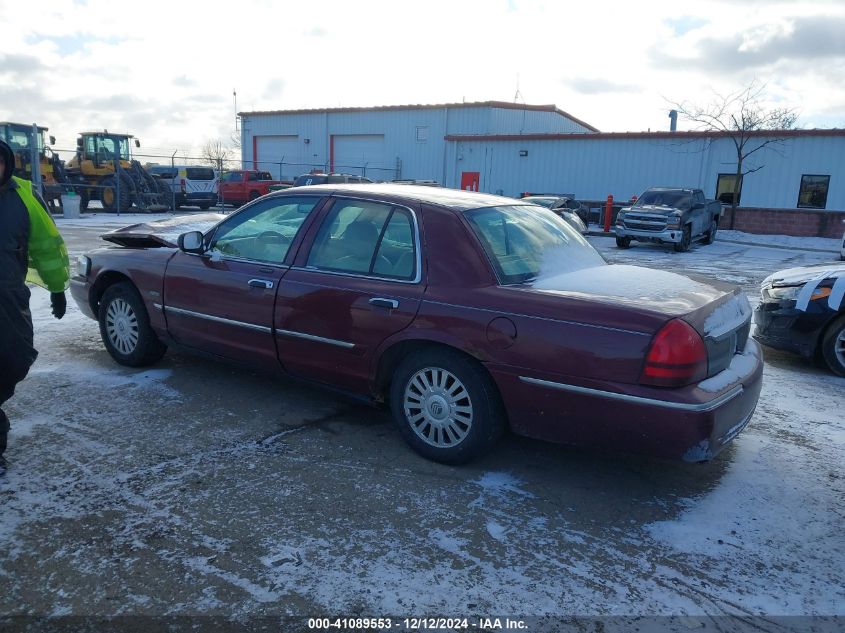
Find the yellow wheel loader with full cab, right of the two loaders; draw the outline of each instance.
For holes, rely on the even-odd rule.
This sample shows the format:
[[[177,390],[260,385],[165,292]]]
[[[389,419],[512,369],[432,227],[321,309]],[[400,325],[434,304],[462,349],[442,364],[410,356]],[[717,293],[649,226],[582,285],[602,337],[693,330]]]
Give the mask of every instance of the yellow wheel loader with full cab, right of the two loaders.
[[[132,158],[131,134],[81,132],[76,156],[65,166],[70,182],[80,195],[82,209],[100,200],[106,211],[127,211],[133,204],[141,211],[169,211],[173,205],[170,185],[155,178]]]

